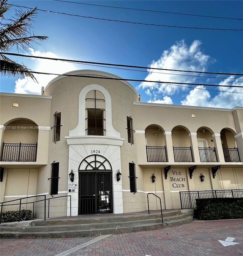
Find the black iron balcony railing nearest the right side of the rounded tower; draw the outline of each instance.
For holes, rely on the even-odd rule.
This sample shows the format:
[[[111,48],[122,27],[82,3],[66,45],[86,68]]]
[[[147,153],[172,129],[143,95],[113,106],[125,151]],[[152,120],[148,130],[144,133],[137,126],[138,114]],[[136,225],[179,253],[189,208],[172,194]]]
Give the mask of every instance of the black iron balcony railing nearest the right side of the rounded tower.
[[[166,146],[164,147],[155,147],[147,146],[147,162],[168,162]]]

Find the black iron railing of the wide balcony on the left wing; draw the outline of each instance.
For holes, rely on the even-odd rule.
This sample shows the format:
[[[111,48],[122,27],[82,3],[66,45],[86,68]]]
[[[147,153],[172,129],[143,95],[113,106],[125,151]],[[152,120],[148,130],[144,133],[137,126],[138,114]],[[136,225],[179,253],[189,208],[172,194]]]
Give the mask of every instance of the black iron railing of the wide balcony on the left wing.
[[[3,142],[1,161],[36,162],[37,143],[5,143]]]

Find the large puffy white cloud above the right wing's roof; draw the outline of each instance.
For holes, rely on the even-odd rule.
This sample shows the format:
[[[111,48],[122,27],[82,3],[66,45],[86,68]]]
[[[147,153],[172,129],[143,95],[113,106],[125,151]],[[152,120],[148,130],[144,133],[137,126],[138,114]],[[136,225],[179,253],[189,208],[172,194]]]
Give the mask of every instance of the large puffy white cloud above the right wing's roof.
[[[157,61],[152,61],[150,67],[174,70],[204,71],[208,65],[210,57],[202,53],[200,50],[200,45],[201,42],[199,40],[194,40],[190,46],[186,45],[184,40],[181,40],[175,45],[172,45],[169,50],[164,51],[160,59]],[[148,69],[148,72],[149,74],[145,78],[145,80],[148,81],[193,83],[196,79],[195,77],[183,76],[188,74],[184,72],[166,70],[159,71],[153,69]],[[173,95],[180,90],[185,90],[185,88],[175,85],[152,82],[142,82],[139,87],[142,87],[143,89],[149,88],[150,93],[153,91],[154,93],[161,93],[162,95]]]

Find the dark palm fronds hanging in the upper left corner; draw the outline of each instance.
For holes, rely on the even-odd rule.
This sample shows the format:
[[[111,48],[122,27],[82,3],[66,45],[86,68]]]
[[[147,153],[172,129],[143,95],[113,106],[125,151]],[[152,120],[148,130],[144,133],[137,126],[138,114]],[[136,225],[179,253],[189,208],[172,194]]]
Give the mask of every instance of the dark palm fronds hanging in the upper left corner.
[[[13,18],[5,19],[4,14],[9,10],[7,0],[0,0],[0,50],[8,52],[11,48],[16,47],[18,51],[28,51],[33,46],[31,43],[38,40],[46,40],[48,37],[34,35],[32,22],[36,17],[36,8],[28,11],[16,10]],[[24,65],[18,64],[0,54],[0,71],[3,75],[18,76],[20,78],[29,77],[37,82],[32,70],[27,69]]]

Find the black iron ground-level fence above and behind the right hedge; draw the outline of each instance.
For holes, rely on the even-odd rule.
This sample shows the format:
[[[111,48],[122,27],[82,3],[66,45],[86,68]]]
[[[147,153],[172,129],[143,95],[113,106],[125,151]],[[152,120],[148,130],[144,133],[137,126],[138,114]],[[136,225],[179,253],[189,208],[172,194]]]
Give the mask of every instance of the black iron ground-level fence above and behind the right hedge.
[[[225,197],[241,198],[243,197],[243,189],[180,191],[181,209],[196,208],[196,199],[199,198]]]

